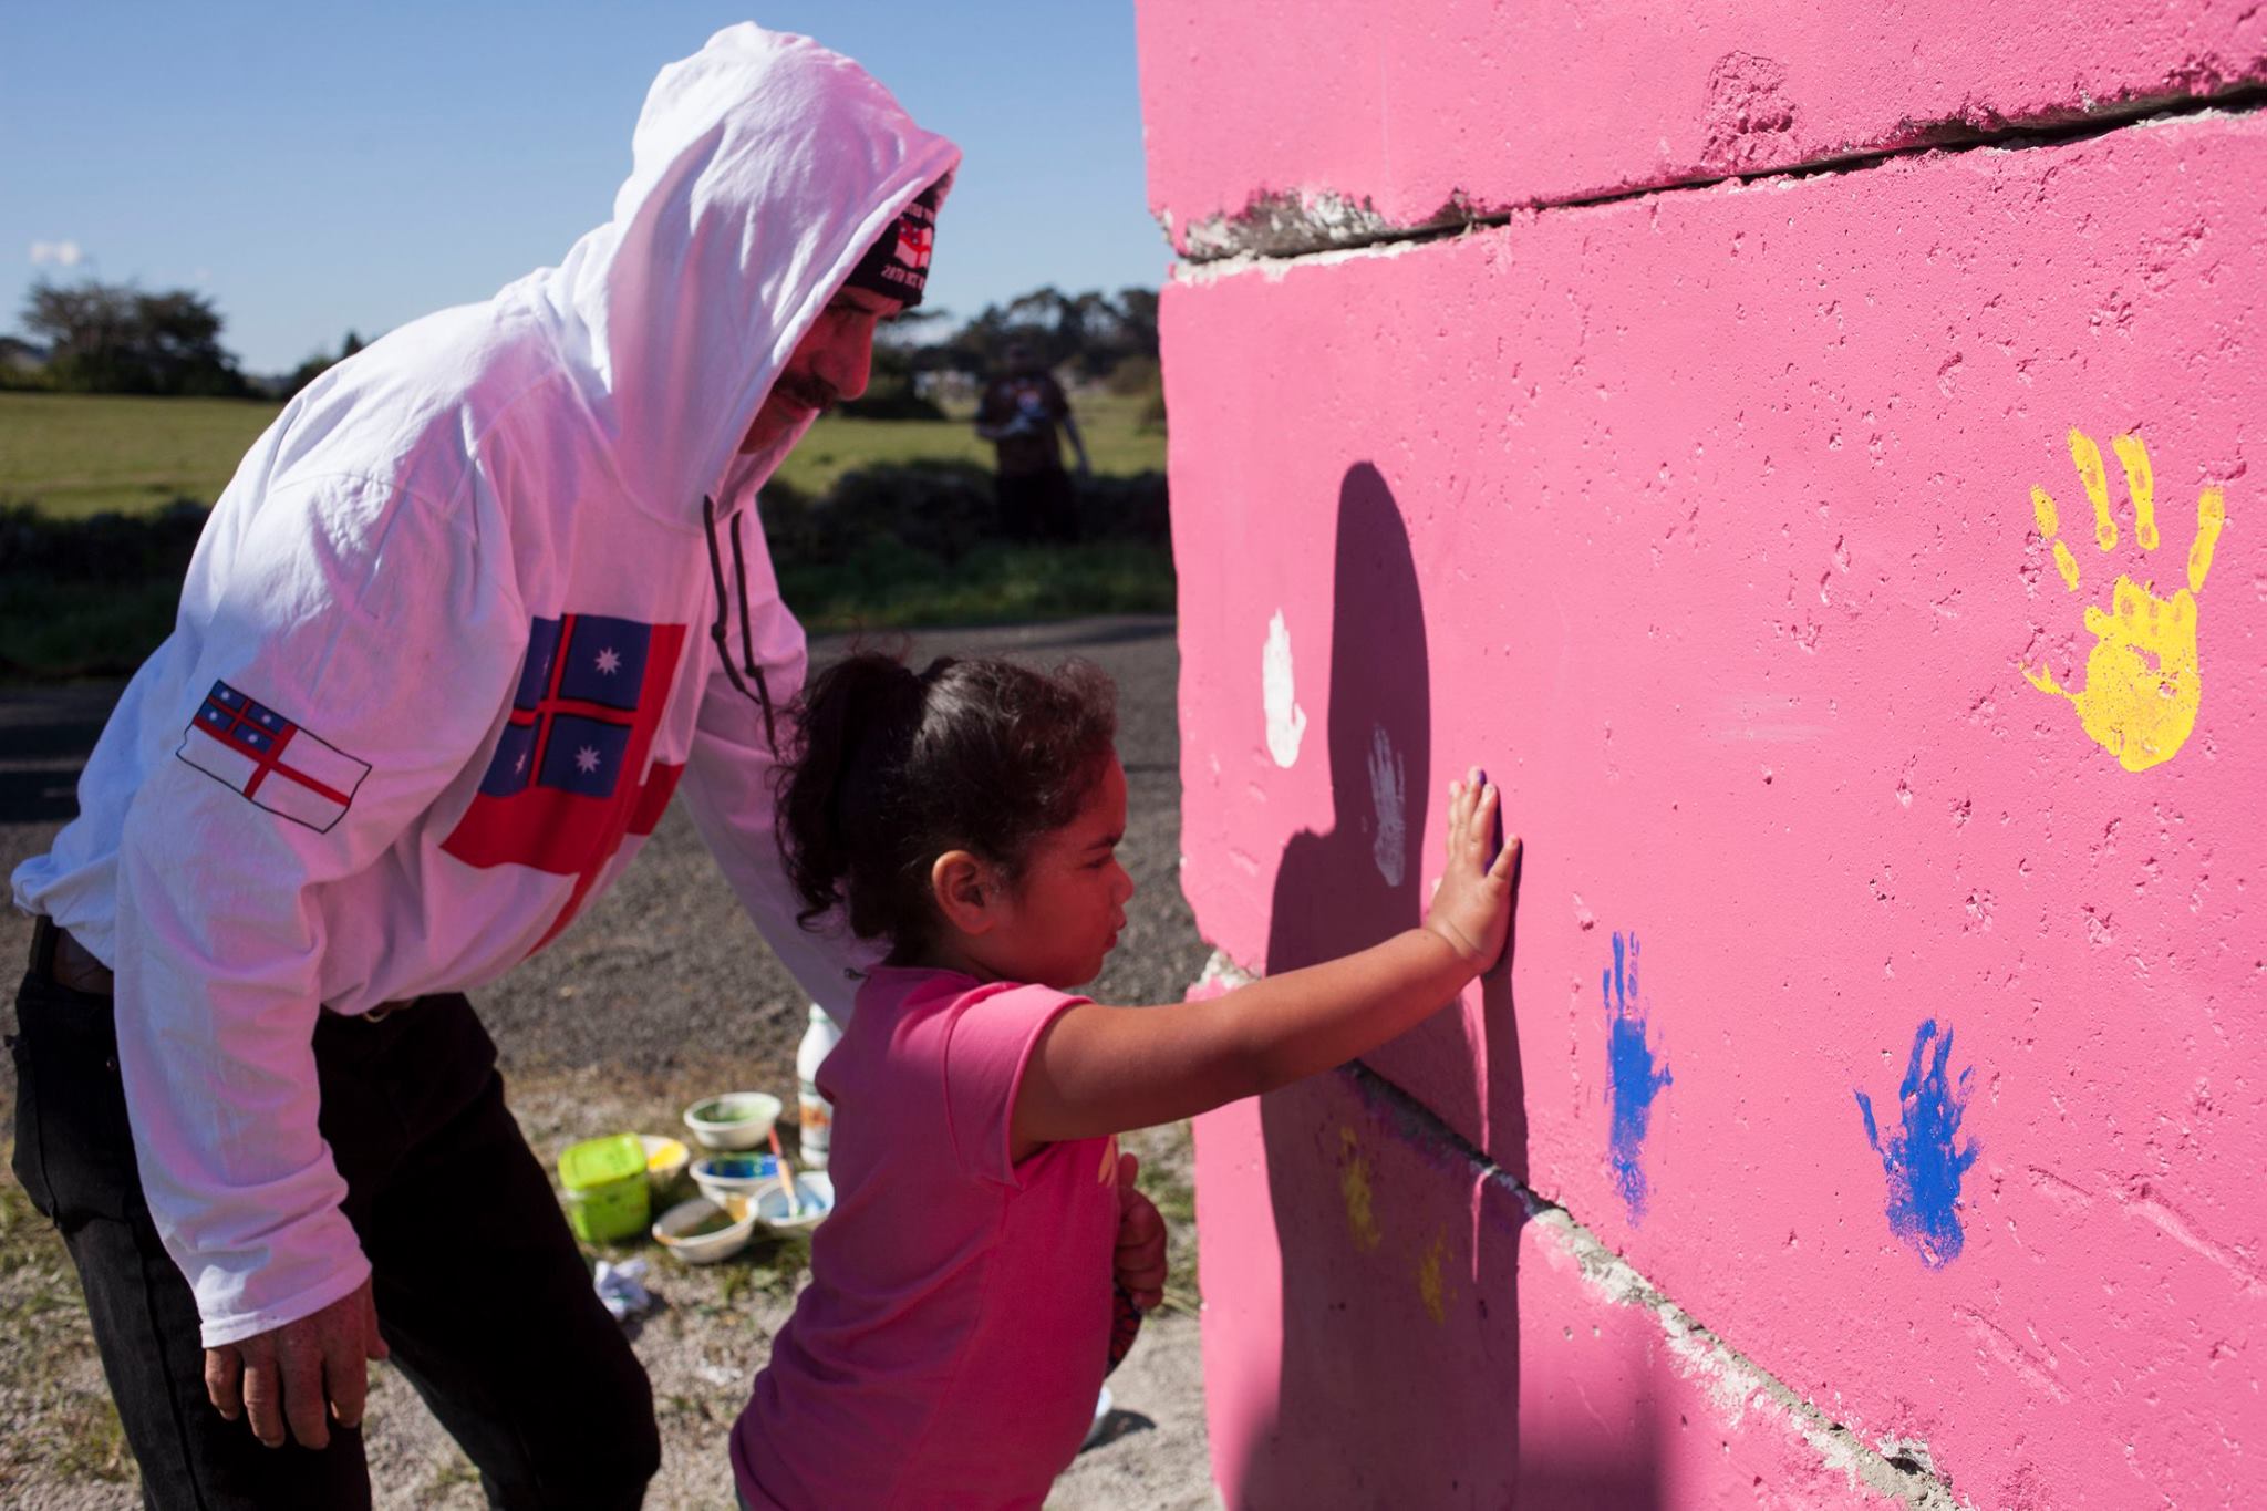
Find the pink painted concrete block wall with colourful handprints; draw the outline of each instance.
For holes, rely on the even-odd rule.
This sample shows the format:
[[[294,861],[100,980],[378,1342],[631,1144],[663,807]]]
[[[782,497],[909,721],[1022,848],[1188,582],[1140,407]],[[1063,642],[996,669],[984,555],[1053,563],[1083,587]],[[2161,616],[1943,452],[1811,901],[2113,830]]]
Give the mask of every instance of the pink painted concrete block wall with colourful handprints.
[[[1746,32],[1816,84],[1766,168],[2262,52],[2213,5],[2049,52],[1304,14],[1143,5],[1177,227],[1705,168],[1680,91]],[[1199,927],[1249,972],[1406,927],[1467,761],[1528,847],[1514,965],[1390,1087],[1199,1126],[1229,1504],[2267,1504],[2253,104],[1183,265]]]

